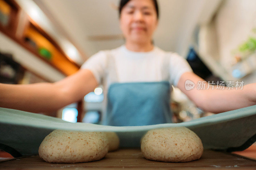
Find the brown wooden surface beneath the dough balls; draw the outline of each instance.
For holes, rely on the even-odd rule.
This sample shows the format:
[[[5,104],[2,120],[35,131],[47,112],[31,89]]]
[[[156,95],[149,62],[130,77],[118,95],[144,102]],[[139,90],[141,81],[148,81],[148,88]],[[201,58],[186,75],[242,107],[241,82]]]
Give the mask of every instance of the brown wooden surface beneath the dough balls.
[[[242,156],[205,150],[199,160],[185,163],[169,163],[147,160],[140,148],[123,148],[98,161],[75,164],[48,163],[38,155],[0,162],[0,169],[256,169],[256,160]]]

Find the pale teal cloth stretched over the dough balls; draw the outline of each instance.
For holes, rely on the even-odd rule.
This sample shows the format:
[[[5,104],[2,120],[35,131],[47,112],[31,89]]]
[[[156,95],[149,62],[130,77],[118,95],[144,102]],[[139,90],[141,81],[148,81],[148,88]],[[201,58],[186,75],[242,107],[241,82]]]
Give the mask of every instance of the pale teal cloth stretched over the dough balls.
[[[21,155],[38,154],[44,137],[55,129],[114,131],[121,146],[140,146],[140,138],[150,129],[185,126],[202,140],[205,149],[243,150],[256,140],[256,105],[178,124],[147,126],[106,126],[69,123],[60,118],[0,108],[0,147]],[[14,152],[12,152],[14,154]]]

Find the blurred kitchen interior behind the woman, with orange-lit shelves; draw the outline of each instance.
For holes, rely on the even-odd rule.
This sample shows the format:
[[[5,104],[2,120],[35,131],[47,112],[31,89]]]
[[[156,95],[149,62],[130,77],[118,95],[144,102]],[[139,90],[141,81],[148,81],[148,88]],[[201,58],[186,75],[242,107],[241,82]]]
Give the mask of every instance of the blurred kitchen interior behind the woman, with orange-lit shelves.
[[[0,82],[55,82],[94,53],[124,44],[119,0],[0,0]],[[256,82],[255,0],[158,0],[154,44],[186,58],[206,81]],[[70,122],[100,123],[98,87],[52,113]],[[42,101],[44,102],[44,101]],[[173,87],[174,123],[212,115]]]

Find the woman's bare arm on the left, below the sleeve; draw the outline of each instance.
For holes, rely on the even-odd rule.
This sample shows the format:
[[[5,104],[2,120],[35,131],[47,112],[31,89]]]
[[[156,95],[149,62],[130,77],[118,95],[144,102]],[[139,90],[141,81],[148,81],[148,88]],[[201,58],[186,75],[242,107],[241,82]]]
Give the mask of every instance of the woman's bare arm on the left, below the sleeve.
[[[0,107],[34,113],[54,111],[82,99],[97,85],[92,72],[86,69],[55,83],[0,83]]]

